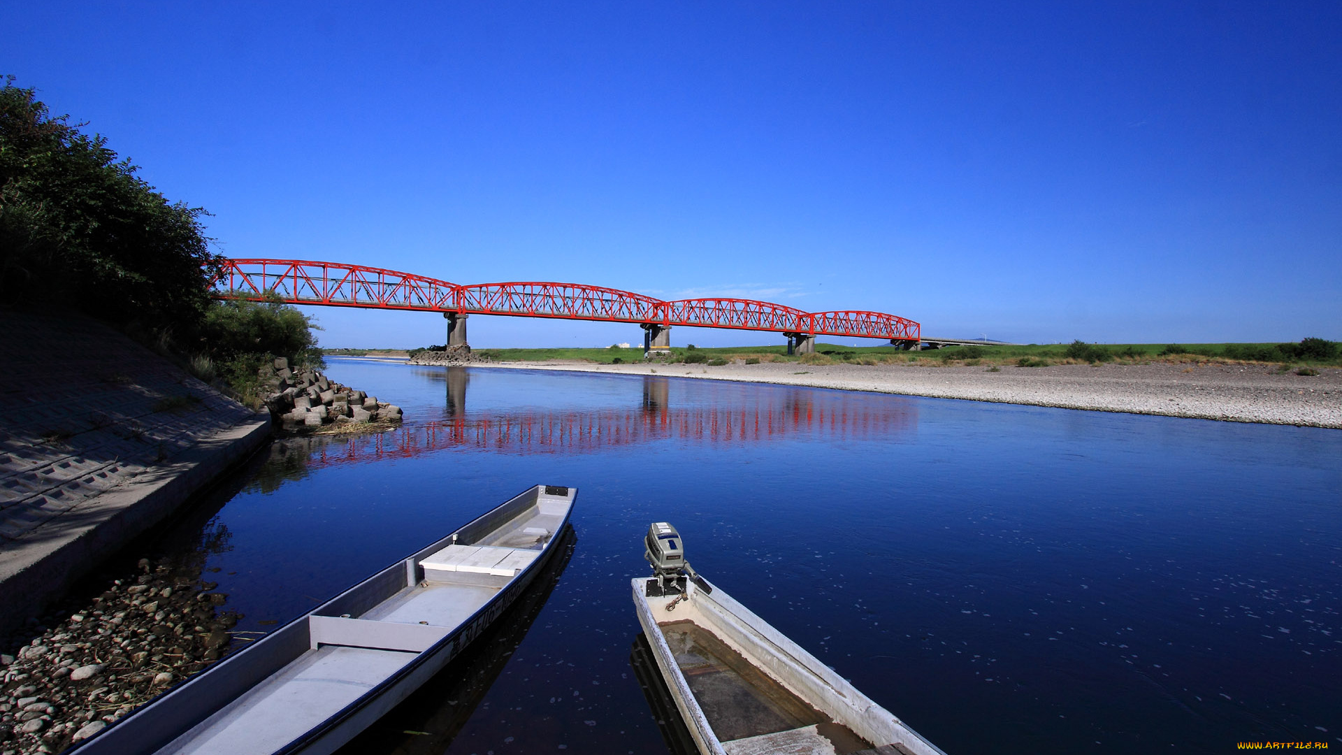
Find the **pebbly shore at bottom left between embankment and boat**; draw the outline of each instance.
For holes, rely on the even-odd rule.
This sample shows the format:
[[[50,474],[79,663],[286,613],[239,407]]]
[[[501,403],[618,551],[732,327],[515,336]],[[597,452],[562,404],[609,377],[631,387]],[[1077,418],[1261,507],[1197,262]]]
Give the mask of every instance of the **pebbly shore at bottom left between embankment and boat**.
[[[136,571],[0,643],[0,755],[60,752],[227,652],[239,617],[199,566]]]

